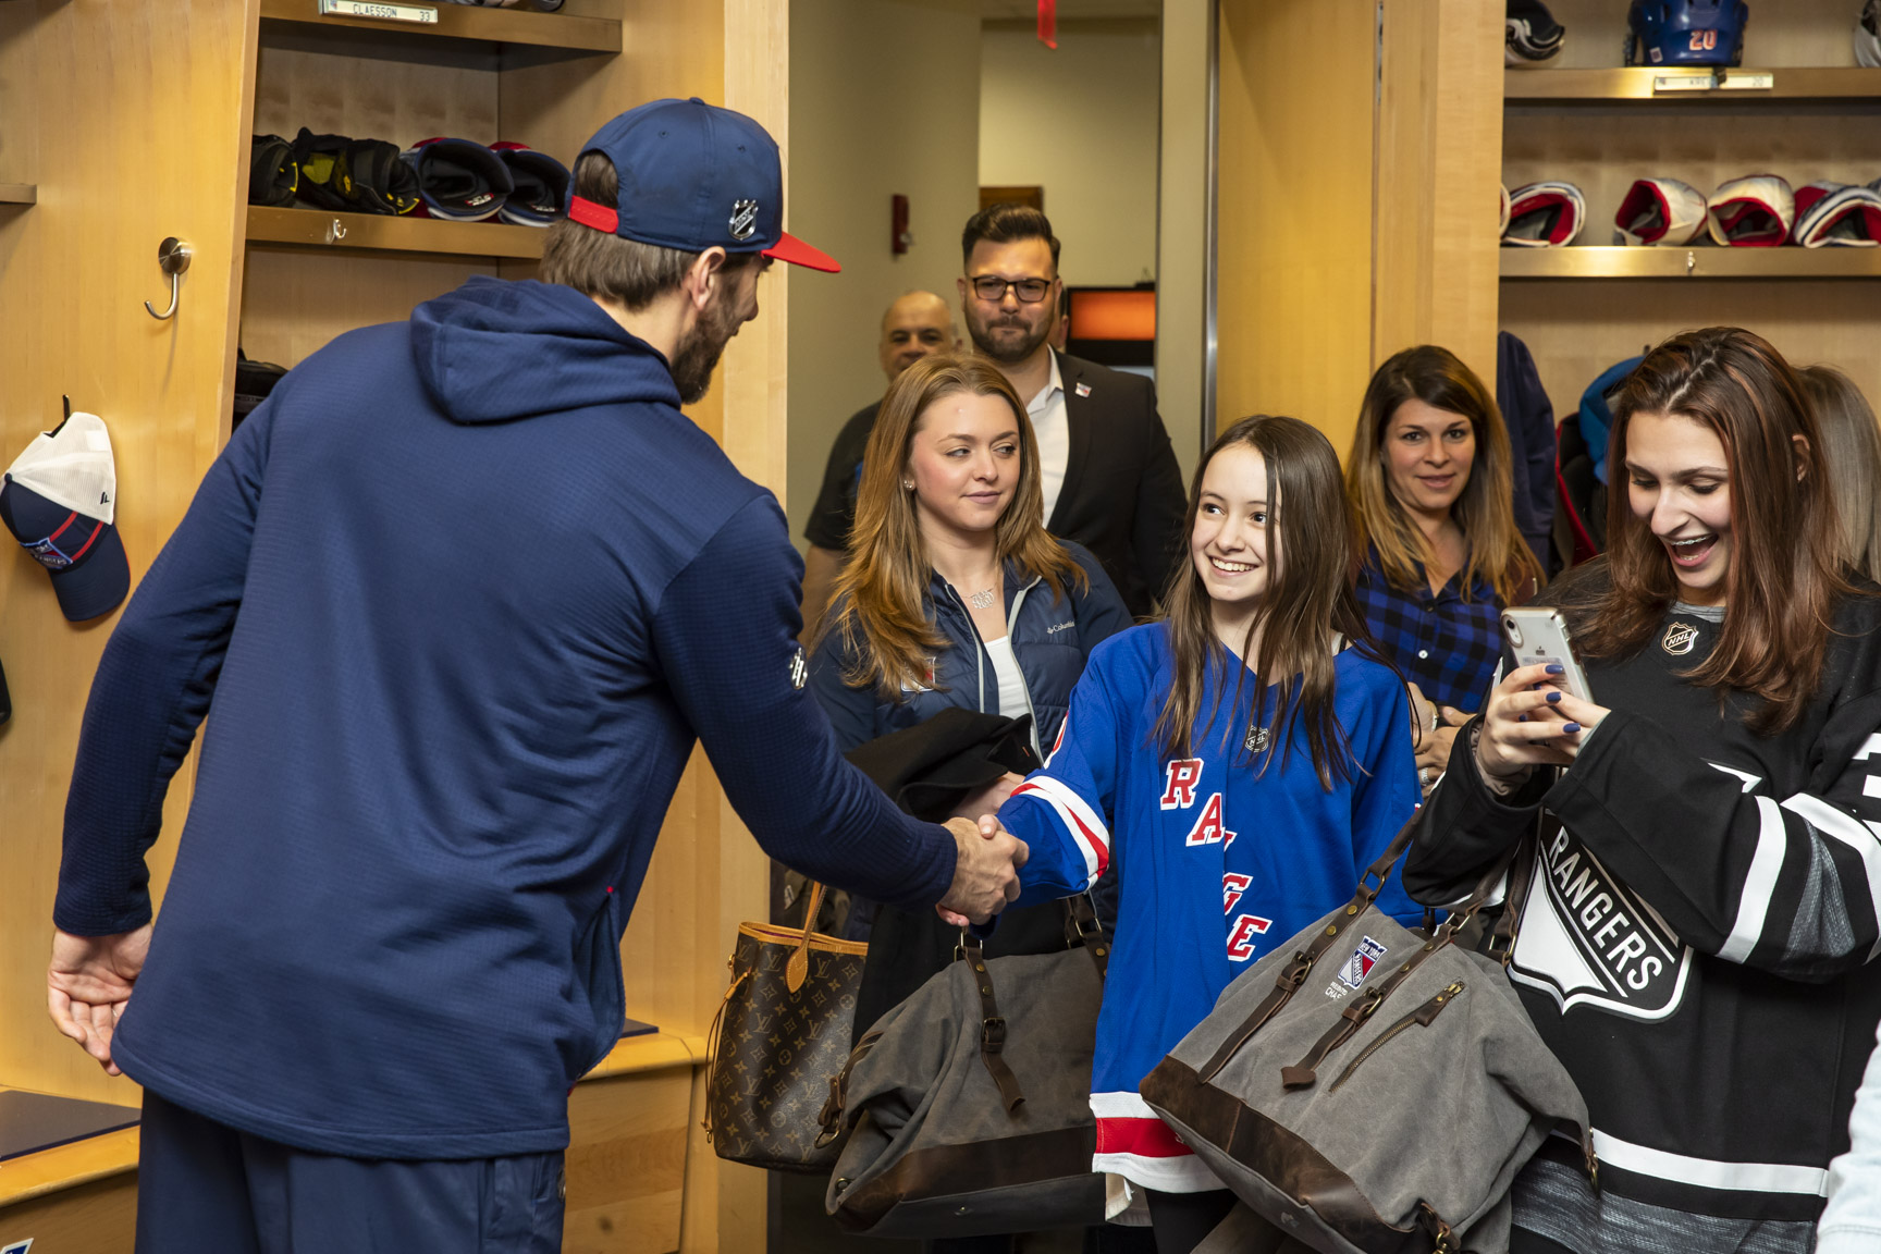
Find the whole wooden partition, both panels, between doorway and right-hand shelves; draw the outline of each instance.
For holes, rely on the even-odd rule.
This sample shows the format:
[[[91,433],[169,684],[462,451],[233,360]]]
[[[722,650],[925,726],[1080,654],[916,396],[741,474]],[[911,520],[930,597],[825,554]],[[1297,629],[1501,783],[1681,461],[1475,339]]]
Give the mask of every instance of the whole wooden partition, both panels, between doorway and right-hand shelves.
[[[1473,0],[1223,2],[1217,427],[1292,414],[1343,455],[1399,348],[1495,378],[1501,30]]]

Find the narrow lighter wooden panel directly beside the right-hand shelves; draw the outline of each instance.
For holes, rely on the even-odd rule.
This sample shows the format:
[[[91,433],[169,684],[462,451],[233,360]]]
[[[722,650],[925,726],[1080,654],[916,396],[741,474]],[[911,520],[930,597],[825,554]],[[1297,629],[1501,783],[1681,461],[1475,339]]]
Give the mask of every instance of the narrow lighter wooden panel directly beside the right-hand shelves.
[[[1441,344],[1494,387],[1503,19],[1456,0],[1381,15],[1371,365]]]

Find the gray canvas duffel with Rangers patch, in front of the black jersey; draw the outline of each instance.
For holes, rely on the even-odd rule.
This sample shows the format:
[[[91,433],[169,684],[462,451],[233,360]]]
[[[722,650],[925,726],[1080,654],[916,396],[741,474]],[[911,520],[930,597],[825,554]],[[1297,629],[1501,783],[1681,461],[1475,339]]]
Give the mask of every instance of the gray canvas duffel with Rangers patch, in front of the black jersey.
[[[1509,1186],[1544,1137],[1573,1136],[1595,1169],[1588,1107],[1503,966],[1456,944],[1509,859],[1433,933],[1373,904],[1415,823],[1142,1083],[1241,1201],[1324,1254],[1503,1254]],[[1520,887],[1492,936],[1501,953]]]

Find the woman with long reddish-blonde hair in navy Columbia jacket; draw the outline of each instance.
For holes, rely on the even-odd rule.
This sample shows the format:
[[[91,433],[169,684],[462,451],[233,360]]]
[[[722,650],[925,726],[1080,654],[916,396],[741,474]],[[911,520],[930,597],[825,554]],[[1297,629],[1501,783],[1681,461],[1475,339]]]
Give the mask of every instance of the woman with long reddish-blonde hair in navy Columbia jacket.
[[[1044,758],[1091,649],[1130,617],[1097,558],[1046,534],[1038,479],[1033,425],[993,365],[927,357],[888,389],[861,461],[850,560],[811,654],[811,688],[845,752],[957,705],[1031,714]],[[1008,775],[959,812],[997,810],[1018,782]],[[852,908],[852,936],[858,914],[867,908]],[[1063,949],[1063,917],[1057,902],[1008,910],[986,951]],[[952,946],[931,912],[882,906],[858,1036],[946,966]],[[1010,1239],[933,1248],[978,1254]]]

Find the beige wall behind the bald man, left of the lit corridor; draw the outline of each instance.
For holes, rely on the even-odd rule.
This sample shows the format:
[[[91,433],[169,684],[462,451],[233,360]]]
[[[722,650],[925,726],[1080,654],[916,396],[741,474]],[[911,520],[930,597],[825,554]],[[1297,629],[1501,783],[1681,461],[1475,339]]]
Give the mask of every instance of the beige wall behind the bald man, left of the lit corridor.
[[[790,280],[790,532],[830,444],[882,395],[882,310],[927,288],[950,303],[978,194],[980,9],[974,0],[792,0],[786,227],[843,263]],[[890,252],[890,196],[914,246]]]

